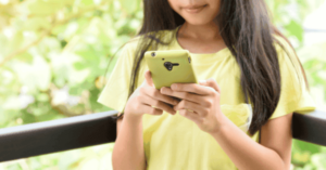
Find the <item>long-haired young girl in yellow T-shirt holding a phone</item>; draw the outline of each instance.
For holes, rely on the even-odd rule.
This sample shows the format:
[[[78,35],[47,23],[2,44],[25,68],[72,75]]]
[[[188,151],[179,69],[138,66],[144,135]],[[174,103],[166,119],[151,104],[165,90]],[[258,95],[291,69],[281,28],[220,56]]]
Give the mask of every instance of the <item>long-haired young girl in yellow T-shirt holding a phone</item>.
[[[99,97],[120,112],[113,168],[288,170],[292,113],[315,103],[264,0],[143,0],[143,10]],[[183,49],[203,81],[156,90],[145,52]]]

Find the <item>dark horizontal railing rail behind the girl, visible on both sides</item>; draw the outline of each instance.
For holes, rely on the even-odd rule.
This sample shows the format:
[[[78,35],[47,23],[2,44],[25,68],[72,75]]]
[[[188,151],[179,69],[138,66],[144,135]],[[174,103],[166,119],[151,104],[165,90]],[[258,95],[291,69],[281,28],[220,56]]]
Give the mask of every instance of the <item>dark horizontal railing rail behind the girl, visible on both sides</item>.
[[[0,161],[115,142],[116,110],[0,129]],[[293,114],[293,139],[326,146],[326,113]]]

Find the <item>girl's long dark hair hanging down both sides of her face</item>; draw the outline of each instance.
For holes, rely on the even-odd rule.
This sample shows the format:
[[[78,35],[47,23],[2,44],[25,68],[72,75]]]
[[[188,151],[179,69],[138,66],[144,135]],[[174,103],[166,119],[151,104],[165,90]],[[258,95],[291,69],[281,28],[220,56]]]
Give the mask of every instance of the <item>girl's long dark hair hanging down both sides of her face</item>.
[[[253,118],[249,132],[253,135],[268,120],[279,101],[280,70],[274,43],[280,42],[273,35],[286,38],[272,25],[264,0],[221,0],[216,21],[225,44],[239,65],[246,103],[250,99],[252,104]],[[175,29],[184,22],[167,0],[143,0],[143,22],[137,34],[142,39],[135,54],[128,96],[137,88],[139,66],[145,52],[150,48],[155,50],[158,45],[167,45],[173,38],[163,41],[160,30]],[[287,42],[290,43],[288,40]],[[297,60],[299,61],[298,56]],[[300,67],[309,90],[301,63]]]

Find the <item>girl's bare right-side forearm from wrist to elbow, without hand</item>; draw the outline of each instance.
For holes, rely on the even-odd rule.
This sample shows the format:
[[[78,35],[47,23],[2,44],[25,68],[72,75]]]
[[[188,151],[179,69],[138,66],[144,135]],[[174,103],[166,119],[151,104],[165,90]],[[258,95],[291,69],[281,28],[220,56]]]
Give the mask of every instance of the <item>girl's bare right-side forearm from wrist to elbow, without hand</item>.
[[[284,160],[275,151],[250,139],[225,115],[221,119],[221,130],[211,135],[239,170],[286,170]]]

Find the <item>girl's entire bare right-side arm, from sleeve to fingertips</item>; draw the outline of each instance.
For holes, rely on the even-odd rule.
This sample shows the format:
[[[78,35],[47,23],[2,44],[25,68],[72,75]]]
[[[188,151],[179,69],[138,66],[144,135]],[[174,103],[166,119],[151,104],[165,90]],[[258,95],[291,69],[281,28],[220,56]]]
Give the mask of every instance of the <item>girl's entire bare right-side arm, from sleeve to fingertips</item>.
[[[199,84],[174,83],[162,88],[161,93],[183,99],[174,109],[211,134],[240,170],[289,169],[292,114],[268,120],[261,129],[260,144],[222,113],[221,89],[215,79]]]

